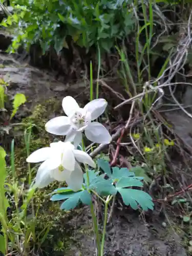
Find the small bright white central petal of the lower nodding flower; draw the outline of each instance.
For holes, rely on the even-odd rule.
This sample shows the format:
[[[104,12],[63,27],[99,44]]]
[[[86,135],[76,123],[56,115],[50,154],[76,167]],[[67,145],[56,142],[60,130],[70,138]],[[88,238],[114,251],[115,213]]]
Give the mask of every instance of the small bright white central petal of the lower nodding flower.
[[[65,148],[62,151],[62,166],[67,170],[74,170],[75,168],[75,156],[71,147]]]

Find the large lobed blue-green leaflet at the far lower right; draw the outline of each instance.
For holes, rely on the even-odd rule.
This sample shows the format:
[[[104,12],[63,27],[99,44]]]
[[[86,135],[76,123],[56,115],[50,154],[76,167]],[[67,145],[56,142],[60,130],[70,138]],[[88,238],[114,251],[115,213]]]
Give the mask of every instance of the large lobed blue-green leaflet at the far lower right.
[[[130,205],[134,210],[138,209],[138,204],[143,210],[154,208],[152,197],[146,192],[132,188],[118,188],[125,205]]]

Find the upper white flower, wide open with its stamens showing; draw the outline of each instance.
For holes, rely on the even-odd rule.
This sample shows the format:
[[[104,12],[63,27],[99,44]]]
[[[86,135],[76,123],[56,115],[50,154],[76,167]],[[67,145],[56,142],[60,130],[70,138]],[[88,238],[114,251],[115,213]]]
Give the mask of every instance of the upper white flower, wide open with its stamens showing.
[[[55,135],[66,135],[66,141],[73,141],[75,147],[81,143],[82,132],[96,143],[108,144],[111,135],[97,119],[105,110],[108,103],[105,99],[90,101],[81,109],[74,98],[67,96],[62,100],[62,108],[67,116],[59,116],[46,123],[46,130]]]

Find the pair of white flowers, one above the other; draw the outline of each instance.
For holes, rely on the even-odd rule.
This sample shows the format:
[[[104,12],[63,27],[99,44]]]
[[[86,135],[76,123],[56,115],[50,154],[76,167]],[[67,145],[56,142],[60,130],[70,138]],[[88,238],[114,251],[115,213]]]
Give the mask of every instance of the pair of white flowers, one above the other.
[[[50,147],[40,148],[27,158],[29,163],[42,162],[35,178],[36,187],[46,187],[54,180],[66,181],[74,191],[82,187],[83,172],[79,163],[95,167],[95,162],[86,152],[76,148],[81,143],[82,132],[93,142],[111,142],[108,130],[99,122],[92,122],[104,112],[106,105],[106,100],[95,99],[81,109],[74,98],[63,98],[62,108],[67,116],[51,119],[46,123],[46,130],[66,135],[65,142],[50,143]]]

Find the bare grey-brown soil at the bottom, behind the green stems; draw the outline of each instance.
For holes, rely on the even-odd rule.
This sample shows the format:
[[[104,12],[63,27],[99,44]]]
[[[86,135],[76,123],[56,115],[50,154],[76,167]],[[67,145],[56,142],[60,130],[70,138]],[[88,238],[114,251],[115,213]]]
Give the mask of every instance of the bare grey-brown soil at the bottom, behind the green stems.
[[[178,234],[163,227],[163,221],[159,220],[159,216],[155,218],[155,212],[153,221],[147,223],[137,212],[115,210],[107,227],[104,255],[186,256]],[[70,220],[70,225],[74,225],[73,236],[78,246],[74,245],[65,255],[96,255],[93,233],[90,232],[92,223],[89,209],[84,207],[81,214]],[[85,230],[88,230],[87,233]]]

